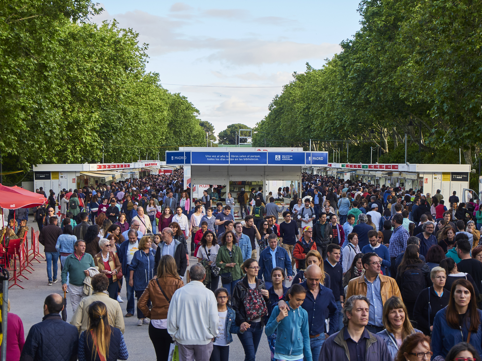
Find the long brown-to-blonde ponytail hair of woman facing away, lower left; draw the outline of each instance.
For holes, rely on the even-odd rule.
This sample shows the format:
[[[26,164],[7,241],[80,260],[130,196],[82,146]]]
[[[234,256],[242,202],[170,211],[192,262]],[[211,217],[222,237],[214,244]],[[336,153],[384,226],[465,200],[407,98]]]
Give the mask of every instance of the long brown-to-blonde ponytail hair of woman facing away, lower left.
[[[94,301],[89,306],[89,328],[87,329],[87,340],[92,338],[92,359],[95,360],[95,353],[107,359],[109,353],[110,334],[112,330],[109,326],[107,308],[104,302]],[[95,347],[97,344],[98,349]]]

